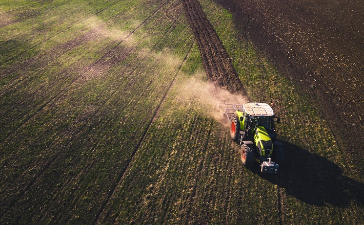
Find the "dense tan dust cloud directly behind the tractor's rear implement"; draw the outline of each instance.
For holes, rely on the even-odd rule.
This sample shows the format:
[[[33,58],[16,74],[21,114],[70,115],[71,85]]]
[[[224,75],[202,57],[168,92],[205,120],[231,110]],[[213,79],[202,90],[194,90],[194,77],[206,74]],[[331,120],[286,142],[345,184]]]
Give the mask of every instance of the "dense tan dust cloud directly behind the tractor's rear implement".
[[[244,96],[231,94],[226,89],[199,78],[204,76],[206,75],[199,74],[181,84],[178,99],[191,102],[196,104],[197,107],[206,109],[203,110],[205,114],[213,117],[217,122],[229,126],[223,118],[226,106],[220,106],[222,100],[225,100],[228,104],[244,104],[248,100]]]

